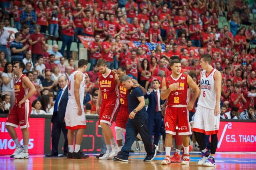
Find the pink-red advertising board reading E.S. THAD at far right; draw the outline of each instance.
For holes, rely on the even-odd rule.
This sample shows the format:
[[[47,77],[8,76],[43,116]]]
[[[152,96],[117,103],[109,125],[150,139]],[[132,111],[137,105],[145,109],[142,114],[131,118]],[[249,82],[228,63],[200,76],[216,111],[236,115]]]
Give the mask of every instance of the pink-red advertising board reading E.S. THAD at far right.
[[[256,151],[256,123],[220,122],[217,151]]]

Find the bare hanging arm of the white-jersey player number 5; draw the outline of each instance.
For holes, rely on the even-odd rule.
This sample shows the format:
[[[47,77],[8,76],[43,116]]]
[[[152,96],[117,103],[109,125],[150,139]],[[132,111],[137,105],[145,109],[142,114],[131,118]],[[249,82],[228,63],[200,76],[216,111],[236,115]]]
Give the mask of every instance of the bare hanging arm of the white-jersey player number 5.
[[[220,114],[220,96],[221,96],[221,73],[216,71],[214,74],[215,79],[215,91],[216,91],[216,104],[214,109],[214,115],[218,116]]]

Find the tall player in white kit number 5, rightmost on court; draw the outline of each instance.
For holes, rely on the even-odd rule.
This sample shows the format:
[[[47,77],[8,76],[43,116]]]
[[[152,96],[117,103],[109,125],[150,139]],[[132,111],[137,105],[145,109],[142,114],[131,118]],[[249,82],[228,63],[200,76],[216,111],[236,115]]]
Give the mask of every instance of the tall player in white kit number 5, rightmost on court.
[[[214,154],[218,145],[218,129],[220,125],[220,90],[221,73],[212,67],[212,57],[204,54],[200,59],[203,71],[200,73],[200,95],[194,117],[194,135],[202,150],[198,165],[216,166]],[[211,135],[211,152],[206,150],[203,134]]]

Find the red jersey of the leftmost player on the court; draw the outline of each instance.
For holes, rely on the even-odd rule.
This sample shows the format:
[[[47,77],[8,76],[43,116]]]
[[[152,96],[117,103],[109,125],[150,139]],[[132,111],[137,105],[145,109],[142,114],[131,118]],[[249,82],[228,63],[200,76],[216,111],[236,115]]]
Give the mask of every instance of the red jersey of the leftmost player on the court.
[[[16,77],[14,81],[15,105],[18,105],[19,102],[28,94],[28,88],[25,89],[22,85],[23,77],[26,77],[26,75],[22,74],[19,78]]]

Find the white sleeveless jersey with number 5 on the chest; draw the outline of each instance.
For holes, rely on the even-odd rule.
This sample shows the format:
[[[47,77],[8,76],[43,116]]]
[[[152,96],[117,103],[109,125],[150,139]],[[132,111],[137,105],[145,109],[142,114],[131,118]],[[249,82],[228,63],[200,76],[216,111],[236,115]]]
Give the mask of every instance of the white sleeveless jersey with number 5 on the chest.
[[[216,69],[212,69],[211,73],[207,75],[206,70],[201,72],[200,77],[200,97],[198,99],[198,105],[213,109],[216,104],[216,90],[215,90],[215,80],[214,73]]]

